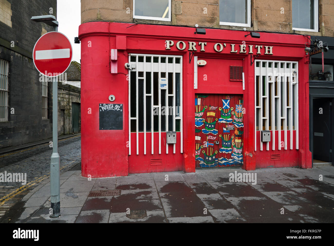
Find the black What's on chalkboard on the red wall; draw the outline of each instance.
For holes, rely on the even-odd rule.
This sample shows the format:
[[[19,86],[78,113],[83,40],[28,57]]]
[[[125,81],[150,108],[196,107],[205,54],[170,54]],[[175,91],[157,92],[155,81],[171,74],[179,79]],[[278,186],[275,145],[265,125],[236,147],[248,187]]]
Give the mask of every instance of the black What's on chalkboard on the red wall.
[[[100,130],[123,130],[123,104],[100,103]]]

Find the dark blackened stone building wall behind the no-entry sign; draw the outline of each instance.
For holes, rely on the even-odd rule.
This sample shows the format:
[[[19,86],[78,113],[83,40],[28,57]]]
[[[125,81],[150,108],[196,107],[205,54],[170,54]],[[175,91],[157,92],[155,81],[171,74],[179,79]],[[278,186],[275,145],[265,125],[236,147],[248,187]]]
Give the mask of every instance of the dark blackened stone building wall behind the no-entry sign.
[[[31,16],[56,16],[56,0],[8,0],[12,27],[0,21],[0,58],[9,61],[8,121],[0,122],[0,149],[52,137],[52,84],[49,82],[49,115],[42,120],[42,83],[32,61],[32,50],[42,35],[44,23]],[[14,41],[14,47],[11,47]],[[14,114],[11,114],[14,108]]]

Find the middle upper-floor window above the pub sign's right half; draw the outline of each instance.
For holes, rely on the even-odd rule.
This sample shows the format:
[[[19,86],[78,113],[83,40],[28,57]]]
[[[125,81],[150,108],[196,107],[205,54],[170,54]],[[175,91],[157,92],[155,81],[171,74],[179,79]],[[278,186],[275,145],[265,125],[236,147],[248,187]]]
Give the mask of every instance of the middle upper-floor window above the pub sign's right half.
[[[219,24],[251,26],[251,0],[219,0]]]

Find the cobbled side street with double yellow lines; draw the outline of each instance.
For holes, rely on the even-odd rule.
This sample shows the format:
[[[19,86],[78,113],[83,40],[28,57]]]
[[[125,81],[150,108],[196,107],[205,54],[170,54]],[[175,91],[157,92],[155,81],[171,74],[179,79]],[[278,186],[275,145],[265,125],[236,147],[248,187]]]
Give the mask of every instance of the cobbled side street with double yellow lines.
[[[73,136],[58,141],[60,172],[81,161],[81,137]],[[49,143],[28,147],[0,155],[0,173],[26,173],[26,184],[22,182],[0,182],[0,218],[29,191],[39,189],[50,174]]]

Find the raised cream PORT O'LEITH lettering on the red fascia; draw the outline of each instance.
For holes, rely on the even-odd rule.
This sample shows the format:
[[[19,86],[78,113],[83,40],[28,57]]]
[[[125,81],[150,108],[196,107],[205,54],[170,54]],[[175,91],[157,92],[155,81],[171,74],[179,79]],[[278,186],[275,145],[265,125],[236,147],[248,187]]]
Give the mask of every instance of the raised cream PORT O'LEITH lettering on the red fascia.
[[[193,42],[193,41],[188,41],[188,44],[183,41],[178,41],[176,42],[176,48],[178,50],[185,50],[188,48],[190,51],[197,51],[198,49],[202,52],[205,51],[206,42]],[[165,41],[165,47],[166,49],[171,49],[171,47],[174,46],[174,41],[173,40],[166,40]],[[197,46],[197,47],[196,47]],[[226,47],[226,43],[215,43],[213,45],[213,50],[216,52],[223,52],[224,47]],[[231,49],[229,50],[230,53],[241,53],[241,54],[253,54],[256,52],[257,54],[262,54],[264,51],[264,54],[266,55],[272,55],[273,53],[273,47],[274,46],[263,46],[263,45],[247,45],[246,44],[235,44],[231,43],[230,44]],[[253,47],[254,47],[254,52],[253,52]]]

